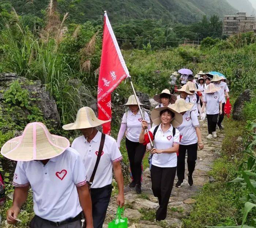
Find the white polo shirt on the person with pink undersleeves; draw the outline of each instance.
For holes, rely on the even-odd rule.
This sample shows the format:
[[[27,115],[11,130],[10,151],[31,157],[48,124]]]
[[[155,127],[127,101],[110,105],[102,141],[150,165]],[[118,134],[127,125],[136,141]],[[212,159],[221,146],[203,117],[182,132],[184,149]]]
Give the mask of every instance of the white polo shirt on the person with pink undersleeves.
[[[150,118],[146,111],[144,111],[144,115],[145,120],[150,124]],[[140,132],[142,130],[141,122],[142,116],[140,115],[140,112],[134,115],[131,110],[128,110],[127,117],[126,113],[124,113],[121,123],[126,123],[127,129],[125,136],[127,139],[132,142],[139,142]]]

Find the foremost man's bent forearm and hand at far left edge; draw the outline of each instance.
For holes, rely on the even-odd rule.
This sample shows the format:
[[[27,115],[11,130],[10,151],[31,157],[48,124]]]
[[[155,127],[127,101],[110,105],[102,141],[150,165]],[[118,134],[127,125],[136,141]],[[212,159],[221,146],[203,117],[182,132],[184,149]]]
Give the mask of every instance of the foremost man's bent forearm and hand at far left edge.
[[[29,186],[25,187],[15,187],[12,207],[6,212],[7,223],[15,224],[15,220],[20,212],[20,208],[27,200],[27,195],[29,193]]]

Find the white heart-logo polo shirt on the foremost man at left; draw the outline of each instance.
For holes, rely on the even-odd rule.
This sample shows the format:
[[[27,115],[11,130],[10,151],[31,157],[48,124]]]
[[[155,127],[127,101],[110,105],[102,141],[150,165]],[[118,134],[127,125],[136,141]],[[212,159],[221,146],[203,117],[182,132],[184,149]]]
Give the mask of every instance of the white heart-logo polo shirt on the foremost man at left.
[[[76,186],[86,184],[86,180],[86,169],[78,152],[68,148],[46,165],[41,161],[18,161],[12,184],[31,186],[35,215],[63,221],[82,211]]]

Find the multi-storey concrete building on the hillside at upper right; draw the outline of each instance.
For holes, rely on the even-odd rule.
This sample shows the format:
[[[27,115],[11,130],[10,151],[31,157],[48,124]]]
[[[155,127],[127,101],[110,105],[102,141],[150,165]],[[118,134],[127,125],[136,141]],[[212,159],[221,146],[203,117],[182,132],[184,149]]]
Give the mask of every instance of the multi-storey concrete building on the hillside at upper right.
[[[254,16],[246,16],[244,12],[237,12],[237,15],[227,15],[224,17],[222,34],[233,35],[251,31],[256,34],[256,20]]]

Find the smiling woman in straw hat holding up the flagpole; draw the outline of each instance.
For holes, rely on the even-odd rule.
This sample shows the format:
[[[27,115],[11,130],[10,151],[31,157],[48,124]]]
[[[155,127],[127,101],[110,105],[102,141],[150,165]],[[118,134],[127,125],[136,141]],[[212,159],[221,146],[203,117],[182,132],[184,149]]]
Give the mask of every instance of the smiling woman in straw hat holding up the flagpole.
[[[167,215],[167,207],[173,182],[176,174],[177,152],[179,149],[180,133],[176,129],[182,123],[182,115],[171,108],[160,107],[151,111],[151,119],[156,125],[149,130],[154,147],[151,164],[151,182],[155,197],[158,197],[159,208],[156,212],[156,220],[164,220]],[[146,145],[149,137],[144,134],[147,122],[142,121],[142,131],[139,142]]]

